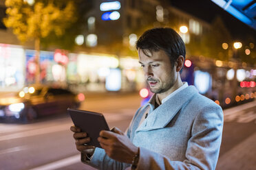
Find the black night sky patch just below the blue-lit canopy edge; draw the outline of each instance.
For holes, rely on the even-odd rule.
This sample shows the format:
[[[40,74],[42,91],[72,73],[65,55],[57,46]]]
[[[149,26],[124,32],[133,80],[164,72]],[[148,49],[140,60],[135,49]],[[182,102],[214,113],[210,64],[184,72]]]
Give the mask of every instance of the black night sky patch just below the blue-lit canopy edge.
[[[256,39],[255,29],[242,23],[242,21],[236,19],[235,16],[232,16],[211,0],[170,0],[170,3],[176,8],[208,23],[211,23],[215,16],[221,16],[225,26],[231,32],[233,38],[237,40],[243,40],[248,34]]]

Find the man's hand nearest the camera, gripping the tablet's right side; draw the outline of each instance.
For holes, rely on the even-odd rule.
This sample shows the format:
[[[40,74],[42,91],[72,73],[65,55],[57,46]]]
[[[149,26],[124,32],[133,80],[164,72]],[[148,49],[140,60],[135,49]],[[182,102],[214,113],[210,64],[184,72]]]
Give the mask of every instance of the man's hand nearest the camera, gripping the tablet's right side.
[[[114,127],[111,131],[100,131],[100,137],[98,137],[100,146],[105,149],[110,158],[131,164],[134,156],[138,154],[138,147],[131,143],[118,128]]]

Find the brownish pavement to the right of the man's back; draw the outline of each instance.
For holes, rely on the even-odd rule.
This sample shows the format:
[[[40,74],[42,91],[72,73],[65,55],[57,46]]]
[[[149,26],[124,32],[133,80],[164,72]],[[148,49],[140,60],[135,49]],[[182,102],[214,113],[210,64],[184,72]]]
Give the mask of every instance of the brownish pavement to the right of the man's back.
[[[256,100],[224,110],[224,133],[217,170],[256,169]],[[230,116],[253,115],[250,122],[243,123]],[[229,118],[228,118],[229,117]]]

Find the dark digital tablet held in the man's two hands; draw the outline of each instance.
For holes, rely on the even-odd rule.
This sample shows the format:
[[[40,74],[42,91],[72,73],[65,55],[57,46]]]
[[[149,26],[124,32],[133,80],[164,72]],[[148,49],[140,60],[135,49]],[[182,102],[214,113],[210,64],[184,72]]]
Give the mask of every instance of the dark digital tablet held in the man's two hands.
[[[109,126],[103,116],[98,112],[90,112],[87,110],[76,110],[67,108],[67,112],[76,127],[80,127],[82,132],[86,132],[91,138],[91,141],[87,145],[94,147],[100,147],[100,143],[97,138],[101,130],[109,130]]]

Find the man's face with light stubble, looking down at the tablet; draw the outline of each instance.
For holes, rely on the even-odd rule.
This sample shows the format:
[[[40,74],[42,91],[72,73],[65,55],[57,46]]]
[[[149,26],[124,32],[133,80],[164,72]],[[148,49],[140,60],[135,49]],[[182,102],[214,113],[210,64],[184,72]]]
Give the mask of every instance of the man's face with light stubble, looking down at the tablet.
[[[145,73],[147,83],[153,93],[164,93],[170,90],[177,80],[176,64],[171,66],[171,61],[163,51],[147,51],[147,55],[138,51],[139,62]]]

